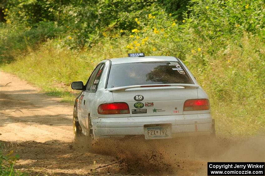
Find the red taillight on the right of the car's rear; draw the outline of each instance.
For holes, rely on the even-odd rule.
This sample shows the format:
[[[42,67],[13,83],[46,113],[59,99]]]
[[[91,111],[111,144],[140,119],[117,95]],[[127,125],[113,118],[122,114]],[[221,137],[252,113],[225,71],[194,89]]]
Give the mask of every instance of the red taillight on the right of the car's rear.
[[[208,99],[191,99],[184,103],[183,111],[209,110],[210,102]]]

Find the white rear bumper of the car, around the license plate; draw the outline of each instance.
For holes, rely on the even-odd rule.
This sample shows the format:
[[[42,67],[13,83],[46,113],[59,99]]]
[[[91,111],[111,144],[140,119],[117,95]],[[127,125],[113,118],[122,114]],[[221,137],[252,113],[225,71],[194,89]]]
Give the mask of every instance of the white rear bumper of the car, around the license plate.
[[[91,120],[95,138],[123,138],[144,135],[144,125],[171,124],[172,138],[210,135],[213,132],[210,113],[143,117],[98,118]]]

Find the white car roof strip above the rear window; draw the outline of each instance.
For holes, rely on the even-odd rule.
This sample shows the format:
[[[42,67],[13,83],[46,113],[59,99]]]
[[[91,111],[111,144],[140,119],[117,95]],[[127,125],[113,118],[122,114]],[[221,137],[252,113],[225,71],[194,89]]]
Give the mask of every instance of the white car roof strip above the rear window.
[[[121,57],[110,59],[111,64],[123,64],[123,63],[134,63],[134,62],[156,62],[156,61],[178,61],[173,56],[144,56],[144,57]]]

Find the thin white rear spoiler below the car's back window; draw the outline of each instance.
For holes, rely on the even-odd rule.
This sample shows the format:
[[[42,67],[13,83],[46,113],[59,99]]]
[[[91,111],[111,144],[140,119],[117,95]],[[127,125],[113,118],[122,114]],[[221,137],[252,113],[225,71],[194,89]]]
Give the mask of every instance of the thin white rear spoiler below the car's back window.
[[[197,84],[146,84],[146,85],[133,85],[133,86],[122,86],[117,88],[107,88],[110,92],[123,92],[133,90],[150,90],[150,89],[172,89],[172,88],[187,88],[196,89],[200,86]],[[133,90],[129,90],[133,89]]]

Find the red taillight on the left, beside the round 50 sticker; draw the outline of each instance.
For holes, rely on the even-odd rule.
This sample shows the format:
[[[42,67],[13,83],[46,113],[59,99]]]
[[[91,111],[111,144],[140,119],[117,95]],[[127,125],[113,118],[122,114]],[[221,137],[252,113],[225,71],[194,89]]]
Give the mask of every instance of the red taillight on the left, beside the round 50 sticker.
[[[99,105],[98,114],[130,114],[127,103],[104,103]]]

